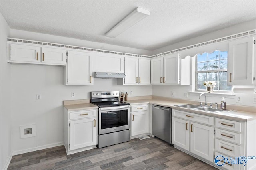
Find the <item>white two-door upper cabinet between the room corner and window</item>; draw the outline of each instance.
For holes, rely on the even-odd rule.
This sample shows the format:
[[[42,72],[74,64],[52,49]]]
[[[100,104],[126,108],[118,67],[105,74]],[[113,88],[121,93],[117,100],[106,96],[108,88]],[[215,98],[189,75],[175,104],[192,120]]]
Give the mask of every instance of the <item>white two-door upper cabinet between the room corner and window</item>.
[[[168,54],[151,60],[151,84],[180,83],[180,54]]]

